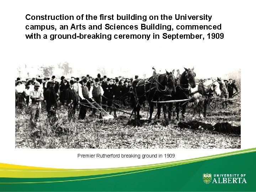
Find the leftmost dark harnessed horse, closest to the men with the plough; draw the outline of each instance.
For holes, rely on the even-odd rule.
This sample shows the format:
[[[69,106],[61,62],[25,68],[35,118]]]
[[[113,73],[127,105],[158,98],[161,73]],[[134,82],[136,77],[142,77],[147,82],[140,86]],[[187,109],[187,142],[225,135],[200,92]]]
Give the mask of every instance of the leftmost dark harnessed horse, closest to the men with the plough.
[[[132,107],[135,114],[135,119],[140,119],[140,108],[148,101],[150,107],[150,116],[152,118],[152,113],[154,111],[154,103],[151,101],[159,101],[161,97],[166,94],[175,94],[175,77],[173,72],[166,71],[165,74],[156,74],[150,78],[136,79],[133,81],[133,97],[131,97]],[[158,119],[160,118],[161,105],[158,105]]]

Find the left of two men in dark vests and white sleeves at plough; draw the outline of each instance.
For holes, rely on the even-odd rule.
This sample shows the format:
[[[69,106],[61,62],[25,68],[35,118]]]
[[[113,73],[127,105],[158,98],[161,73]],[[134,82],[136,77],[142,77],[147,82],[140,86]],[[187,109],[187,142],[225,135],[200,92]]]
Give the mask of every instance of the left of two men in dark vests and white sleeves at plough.
[[[79,86],[79,90],[78,90],[78,94],[80,97],[80,111],[78,116],[79,119],[84,119],[86,116],[86,111],[87,111],[86,100],[89,100],[89,90],[86,84],[87,84],[86,79],[83,79],[83,84]]]

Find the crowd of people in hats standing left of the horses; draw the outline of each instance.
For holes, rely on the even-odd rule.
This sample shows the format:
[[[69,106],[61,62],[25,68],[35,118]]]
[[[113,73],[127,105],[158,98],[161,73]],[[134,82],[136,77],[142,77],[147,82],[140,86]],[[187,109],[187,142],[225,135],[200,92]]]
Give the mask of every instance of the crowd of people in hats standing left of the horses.
[[[135,75],[138,79],[138,75]],[[113,99],[121,101],[122,105],[127,105],[129,92],[131,90],[133,78],[107,78],[106,75],[101,78],[98,74],[97,78],[90,75],[80,78],[71,77],[67,80],[64,76],[60,78],[60,82],[52,78],[44,77],[27,79],[21,81],[17,78],[15,81],[16,107],[23,109],[24,106],[30,107],[31,120],[37,121],[45,106],[47,111],[47,119],[50,125],[56,122],[57,103],[67,106],[68,120],[72,121],[76,110],[79,110],[79,119],[84,119],[88,108],[92,108],[92,116],[96,116],[96,110],[99,111],[99,118],[102,118],[101,107],[111,108],[117,106]],[[92,107],[92,105],[95,105]],[[116,115],[116,111],[114,111]]]

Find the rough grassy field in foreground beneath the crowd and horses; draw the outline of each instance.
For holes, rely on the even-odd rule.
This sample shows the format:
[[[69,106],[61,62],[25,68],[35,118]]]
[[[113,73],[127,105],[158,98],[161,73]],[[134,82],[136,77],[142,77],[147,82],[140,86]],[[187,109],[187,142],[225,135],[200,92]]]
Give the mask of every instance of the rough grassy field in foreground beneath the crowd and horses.
[[[240,96],[238,96],[240,102]],[[142,110],[142,116],[147,116],[148,108]],[[187,112],[191,111],[187,108]],[[131,112],[131,111],[129,111]],[[155,116],[156,110],[153,113]],[[178,127],[177,121],[167,126],[158,123],[144,123],[140,127],[127,124],[128,114],[117,112],[116,119],[96,119],[87,112],[85,120],[67,121],[65,107],[59,108],[58,128],[48,127],[47,113],[42,111],[37,124],[29,121],[29,108],[16,109],[15,130],[16,148],[241,148],[239,134],[219,133],[203,128],[188,129]],[[76,113],[76,117],[78,112]],[[192,113],[187,113],[184,120],[191,121]],[[232,126],[240,126],[240,105],[208,107],[207,117],[196,119],[203,123],[214,125],[218,122],[228,122]]]

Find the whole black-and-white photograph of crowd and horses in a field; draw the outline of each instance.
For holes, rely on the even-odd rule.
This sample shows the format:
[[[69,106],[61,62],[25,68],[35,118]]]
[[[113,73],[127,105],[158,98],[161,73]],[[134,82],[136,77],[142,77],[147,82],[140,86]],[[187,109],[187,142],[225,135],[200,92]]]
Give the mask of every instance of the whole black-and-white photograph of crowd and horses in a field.
[[[241,70],[20,64],[16,148],[241,148]]]

